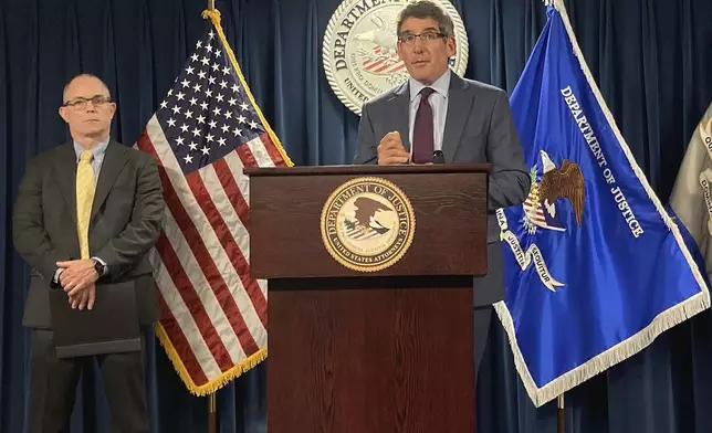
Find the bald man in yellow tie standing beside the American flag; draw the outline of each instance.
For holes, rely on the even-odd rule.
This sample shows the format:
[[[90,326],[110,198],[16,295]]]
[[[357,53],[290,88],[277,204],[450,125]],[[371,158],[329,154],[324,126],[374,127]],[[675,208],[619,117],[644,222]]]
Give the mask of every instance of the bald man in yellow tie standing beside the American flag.
[[[35,157],[20,184],[14,245],[32,267],[23,325],[31,331],[29,432],[69,430],[81,366],[57,359],[50,289],[92,309],[111,285],[133,287],[138,320],[157,317],[146,253],[160,234],[164,200],[155,160],[109,138],[116,105],[96,76],[64,88],[60,115],[73,142]],[[91,358],[90,358],[91,360]],[[143,351],[96,356],[114,431],[148,432]]]

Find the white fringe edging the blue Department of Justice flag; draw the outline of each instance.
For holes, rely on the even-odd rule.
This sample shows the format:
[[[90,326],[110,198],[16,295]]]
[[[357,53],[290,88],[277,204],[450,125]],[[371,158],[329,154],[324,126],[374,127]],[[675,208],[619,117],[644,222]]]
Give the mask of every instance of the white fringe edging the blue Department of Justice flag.
[[[608,125],[614,131],[616,139],[618,140],[621,149],[624,150],[624,154],[628,159],[628,163],[632,168],[640,183],[643,186],[646,192],[648,193],[648,197],[656,205],[658,213],[660,214],[666,225],[672,232],[676,241],[678,242],[678,245],[682,251],[682,254],[685,257],[692,271],[692,274],[694,275],[695,281],[699,284],[700,293],[660,313],[651,320],[651,323],[648,326],[646,326],[639,332],[628,337],[624,341],[620,341],[618,345],[609,348],[603,353],[597,355],[596,357],[578,366],[577,368],[568,371],[567,373],[562,374],[561,377],[551,381],[549,383],[546,383],[541,389],[536,387],[536,383],[532,378],[528,367],[524,361],[524,357],[522,356],[519,344],[516,341],[516,334],[514,329],[514,323],[512,320],[512,315],[510,314],[510,310],[507,309],[506,304],[504,304],[504,302],[499,302],[494,304],[494,309],[498,316],[500,317],[500,321],[502,323],[504,330],[506,331],[510,346],[514,355],[514,365],[516,367],[516,370],[520,373],[520,377],[522,378],[522,382],[524,383],[524,388],[526,389],[526,392],[528,393],[530,398],[532,399],[532,401],[537,408],[556,399],[558,395],[579,386],[580,383],[587,381],[594,376],[638,353],[639,351],[648,347],[650,344],[652,344],[652,341],[666,330],[674,327],[676,325],[679,325],[680,323],[693,317],[694,315],[710,307],[710,293],[704,282],[704,278],[700,273],[700,268],[698,267],[697,263],[692,258],[690,251],[684,244],[684,241],[680,233],[680,229],[674,223],[672,218],[670,218],[668,212],[664,210],[664,208],[662,207],[662,203],[656,196],[655,191],[652,191],[652,189],[650,188],[650,184],[648,183],[648,180],[645,173],[642,172],[640,167],[638,167],[632,154],[630,152],[630,148],[628,147],[626,140],[620,134],[620,130],[616,125],[614,116],[608,109],[608,106],[606,105],[606,102],[604,101],[604,97],[598,86],[596,85],[596,82],[590,73],[590,70],[588,68],[588,65],[584,60],[584,54],[580,51],[578,42],[576,41],[576,35],[574,34],[574,30],[570,25],[570,21],[568,20],[566,8],[564,7],[561,0],[545,0],[545,2],[546,4],[553,3],[555,9],[559,12],[564,27],[566,28],[566,32],[568,34],[569,41],[574,49],[574,55],[578,59],[579,66],[584,75],[586,76],[587,84],[590,87],[594,95],[596,96],[596,101],[598,102],[598,105],[604,112],[604,115],[606,116],[606,120],[608,122]]]

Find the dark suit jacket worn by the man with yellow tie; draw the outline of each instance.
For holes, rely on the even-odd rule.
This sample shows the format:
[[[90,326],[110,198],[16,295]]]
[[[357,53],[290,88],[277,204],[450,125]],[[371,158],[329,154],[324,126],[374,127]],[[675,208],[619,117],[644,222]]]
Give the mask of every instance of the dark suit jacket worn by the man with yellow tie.
[[[13,211],[18,253],[32,267],[22,324],[52,329],[49,289],[55,262],[80,257],[76,234],[76,154],[65,144],[35,157],[27,168]],[[140,325],[157,318],[153,268],[146,253],[160,234],[165,202],[156,161],[109,141],[96,182],[90,220],[90,253],[106,262],[102,286],[127,283],[136,291]]]

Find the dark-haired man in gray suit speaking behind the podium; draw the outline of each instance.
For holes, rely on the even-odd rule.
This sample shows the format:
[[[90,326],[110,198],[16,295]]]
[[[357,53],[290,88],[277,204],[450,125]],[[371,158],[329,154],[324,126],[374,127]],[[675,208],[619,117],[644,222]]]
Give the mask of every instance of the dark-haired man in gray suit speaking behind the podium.
[[[530,178],[505,92],[462,80],[448,67],[453,23],[430,1],[398,17],[398,55],[410,80],[362,107],[354,163],[490,162],[486,276],[474,279],[475,366],[488,340],[492,304],[504,298],[498,208],[522,203]],[[412,145],[411,145],[412,144]]]

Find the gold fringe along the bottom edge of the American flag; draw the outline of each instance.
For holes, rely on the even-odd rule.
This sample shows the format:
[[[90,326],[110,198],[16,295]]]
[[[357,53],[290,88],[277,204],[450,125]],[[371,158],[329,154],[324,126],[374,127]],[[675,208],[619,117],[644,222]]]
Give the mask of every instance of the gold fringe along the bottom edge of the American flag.
[[[154,326],[154,329],[156,330],[156,337],[158,337],[158,341],[160,342],[160,346],[163,346],[164,350],[168,355],[168,359],[170,359],[170,362],[172,362],[174,368],[178,372],[178,376],[180,377],[180,379],[186,384],[186,388],[188,388],[188,391],[190,391],[190,393],[198,397],[205,397],[213,392],[217,392],[219,389],[230,383],[230,381],[233,380],[234,378],[238,378],[242,376],[242,373],[256,367],[260,362],[265,360],[268,357],[268,349],[262,348],[256,352],[252,353],[251,356],[249,356],[248,358],[243,359],[241,362],[232,367],[230,370],[223,371],[222,374],[220,374],[218,378],[209,381],[208,383],[203,383],[199,386],[192,381],[192,378],[188,373],[186,366],[182,363],[180,356],[178,356],[178,351],[176,350],[172,342],[170,341],[170,338],[168,337],[168,334],[166,332],[166,329],[163,327],[163,325],[159,321],[157,321]]]

